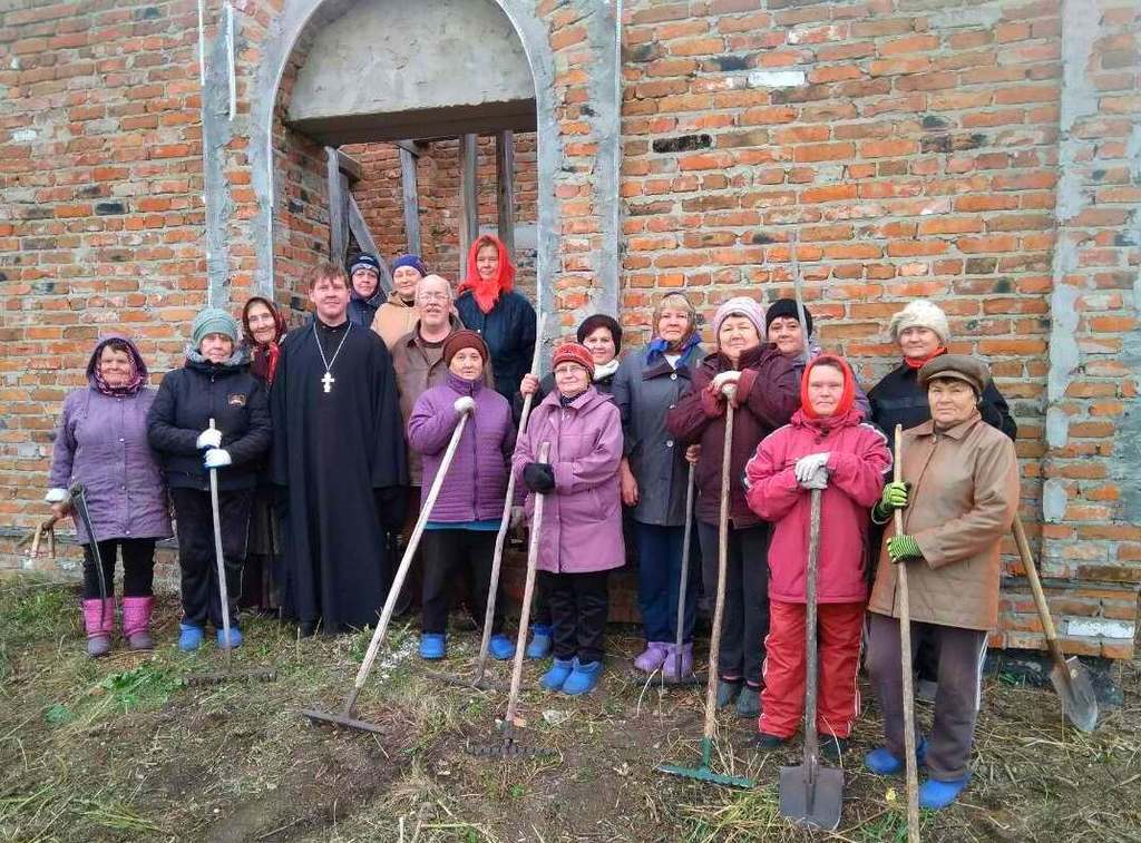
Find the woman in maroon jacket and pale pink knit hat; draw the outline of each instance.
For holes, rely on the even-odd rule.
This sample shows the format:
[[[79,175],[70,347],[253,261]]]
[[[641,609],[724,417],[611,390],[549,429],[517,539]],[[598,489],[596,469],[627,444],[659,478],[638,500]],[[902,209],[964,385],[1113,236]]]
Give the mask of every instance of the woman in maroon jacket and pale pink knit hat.
[[[666,415],[674,447],[699,444],[697,532],[705,593],[717,590],[718,521],[726,403],[734,402],[729,467],[728,574],[717,705],[737,704],[742,718],[760,714],[761,663],[769,631],[769,526],[745,500],[745,463],[761,439],[788,422],[800,406],[793,364],[762,340],[764,313],[746,297],[729,299],[713,317],[717,350],[694,373],[693,391]],[[735,390],[735,392],[734,392]],[[731,398],[727,392],[734,392]]]

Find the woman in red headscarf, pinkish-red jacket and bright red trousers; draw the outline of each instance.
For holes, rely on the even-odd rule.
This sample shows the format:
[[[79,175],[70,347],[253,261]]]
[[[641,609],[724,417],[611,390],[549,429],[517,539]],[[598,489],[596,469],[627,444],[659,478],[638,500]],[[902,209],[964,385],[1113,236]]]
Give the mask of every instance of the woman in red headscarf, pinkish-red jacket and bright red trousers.
[[[856,379],[820,355],[801,380],[801,410],[748,461],[746,500],[774,524],[769,545],[769,635],[759,733],[772,749],[796,733],[804,705],[804,602],[810,491],[822,488],[817,568],[822,753],[839,759],[859,713],[856,670],[867,602],[868,510],[880,500],[891,452],[855,407]]]

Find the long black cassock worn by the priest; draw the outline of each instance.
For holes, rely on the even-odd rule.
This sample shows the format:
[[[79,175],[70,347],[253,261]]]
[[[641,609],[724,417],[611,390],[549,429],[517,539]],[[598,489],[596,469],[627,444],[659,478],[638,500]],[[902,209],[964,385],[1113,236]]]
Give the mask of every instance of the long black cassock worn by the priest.
[[[322,350],[333,378],[329,391]],[[289,497],[286,609],[302,625],[319,619],[327,634],[373,624],[388,581],[385,528],[403,517],[396,508],[407,485],[383,340],[347,322],[329,327],[314,319],[291,331],[273,411],[273,478]]]

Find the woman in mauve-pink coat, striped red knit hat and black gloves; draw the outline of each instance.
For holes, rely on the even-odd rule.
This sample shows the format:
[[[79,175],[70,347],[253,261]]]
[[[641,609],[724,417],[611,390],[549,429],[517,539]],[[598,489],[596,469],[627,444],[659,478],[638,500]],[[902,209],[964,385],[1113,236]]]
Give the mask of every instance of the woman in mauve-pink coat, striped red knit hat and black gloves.
[[[618,464],[622,418],[591,381],[594,359],[568,342],[555,350],[555,389],[535,408],[512,460],[516,477],[547,495],[539,576],[551,608],[555,662],[541,680],[551,691],[586,694],[602,672],[607,578],[625,564]],[[550,443],[547,462],[539,449]]]

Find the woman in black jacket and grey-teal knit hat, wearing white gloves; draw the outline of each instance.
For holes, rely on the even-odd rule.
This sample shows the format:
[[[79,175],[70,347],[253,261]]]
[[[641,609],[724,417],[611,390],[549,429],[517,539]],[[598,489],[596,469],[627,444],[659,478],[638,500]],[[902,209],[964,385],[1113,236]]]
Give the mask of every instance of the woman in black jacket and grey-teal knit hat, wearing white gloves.
[[[219,308],[202,310],[194,318],[186,365],[162,379],[147,416],[147,436],[162,456],[178,522],[178,648],[186,651],[202,646],[208,621],[219,647],[242,643],[236,624],[228,640],[222,631],[213,519],[221,524],[227,591],[236,599],[242,593],[253,488],[273,432],[265,387],[250,373],[245,349],[237,343],[237,319]],[[219,472],[217,512],[210,502],[211,469],[225,469]]]

